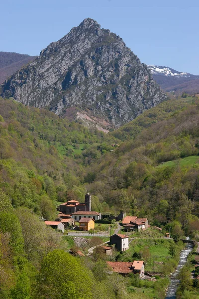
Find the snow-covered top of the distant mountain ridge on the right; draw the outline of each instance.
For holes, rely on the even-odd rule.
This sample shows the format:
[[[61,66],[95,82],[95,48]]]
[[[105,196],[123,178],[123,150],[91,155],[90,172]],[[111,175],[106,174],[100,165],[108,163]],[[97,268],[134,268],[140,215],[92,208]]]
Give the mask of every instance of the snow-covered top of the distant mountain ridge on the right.
[[[176,76],[181,78],[190,78],[194,77],[194,75],[190,73],[181,73],[178,72],[168,66],[160,66],[160,65],[147,65],[148,68],[151,70],[153,75],[164,75],[164,76]]]

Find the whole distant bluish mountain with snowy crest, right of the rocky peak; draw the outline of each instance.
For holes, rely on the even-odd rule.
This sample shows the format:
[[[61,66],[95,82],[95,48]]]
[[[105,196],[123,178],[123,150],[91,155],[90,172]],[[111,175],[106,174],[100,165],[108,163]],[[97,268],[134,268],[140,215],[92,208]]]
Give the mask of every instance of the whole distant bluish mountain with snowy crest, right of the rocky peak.
[[[147,65],[152,72],[154,80],[166,92],[177,95],[183,92],[189,94],[199,93],[199,76],[186,72],[176,71],[168,66]]]

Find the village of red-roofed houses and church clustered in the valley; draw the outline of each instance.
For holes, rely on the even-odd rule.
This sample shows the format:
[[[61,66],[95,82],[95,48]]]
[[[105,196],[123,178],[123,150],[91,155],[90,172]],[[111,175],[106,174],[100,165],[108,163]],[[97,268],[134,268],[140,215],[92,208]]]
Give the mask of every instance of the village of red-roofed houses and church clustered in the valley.
[[[103,256],[110,272],[115,272],[123,276],[131,273],[137,274],[139,279],[149,281],[156,281],[157,277],[165,276],[166,270],[163,270],[163,260],[161,260],[161,257],[150,256],[149,245],[152,244],[151,248],[155,245],[157,249],[161,246],[168,248],[171,246],[171,242],[173,242],[173,240],[170,239],[169,232],[163,233],[161,228],[156,226],[151,227],[147,218],[126,216],[125,213],[122,212],[117,216],[109,216],[107,220],[107,215],[101,215],[100,212],[92,211],[91,207],[92,196],[90,193],[86,193],[84,202],[70,200],[60,204],[56,221],[45,221],[45,224],[46,226],[60,231],[66,238],[67,236],[74,237],[74,240],[79,238],[79,246],[76,246],[76,249],[71,248],[69,252],[82,257],[85,255],[92,256],[95,251],[95,255]],[[109,230],[106,232],[96,230],[97,227],[102,228],[104,222],[106,223],[106,227],[109,227]],[[109,223],[109,225],[107,223]],[[113,226],[113,229],[111,229],[111,226]],[[154,237],[151,235],[151,232],[153,232],[153,234],[155,233]],[[131,242],[136,239],[134,236],[137,235],[139,236],[137,239],[139,239],[145,247],[145,252],[143,252],[142,255],[134,253],[132,256],[129,256],[132,250],[132,247],[129,249],[130,244],[133,244]],[[91,248],[88,248],[87,253],[86,251],[83,253],[84,246],[82,251],[81,239],[84,239],[84,237],[89,238],[89,236],[90,238],[92,236],[99,238],[99,242],[94,244]],[[100,239],[100,236],[106,238],[107,241],[105,240],[105,242],[101,243],[100,240],[102,239]],[[164,243],[158,244],[157,239]],[[147,253],[150,256],[150,263]],[[153,260],[152,269],[151,260]],[[148,268],[147,271],[145,267]],[[167,269],[166,266],[165,269]]]

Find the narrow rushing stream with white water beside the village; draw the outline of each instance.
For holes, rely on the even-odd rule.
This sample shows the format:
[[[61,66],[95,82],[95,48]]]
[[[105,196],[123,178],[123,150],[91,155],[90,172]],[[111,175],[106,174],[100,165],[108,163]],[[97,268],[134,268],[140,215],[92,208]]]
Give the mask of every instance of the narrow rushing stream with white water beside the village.
[[[189,240],[189,237],[187,237],[187,240]],[[176,291],[180,284],[180,280],[177,279],[177,276],[178,276],[180,270],[186,264],[187,257],[189,255],[189,253],[192,251],[192,249],[193,249],[193,244],[186,243],[185,249],[183,249],[181,251],[180,261],[179,261],[178,267],[176,268],[176,271],[170,277],[170,285],[168,287],[168,291],[167,291],[165,299],[176,299]]]

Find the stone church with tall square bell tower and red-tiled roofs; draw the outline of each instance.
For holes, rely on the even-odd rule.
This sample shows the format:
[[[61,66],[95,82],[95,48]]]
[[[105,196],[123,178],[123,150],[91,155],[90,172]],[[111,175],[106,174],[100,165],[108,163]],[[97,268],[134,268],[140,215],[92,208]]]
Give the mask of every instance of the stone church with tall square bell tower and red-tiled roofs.
[[[69,200],[60,204],[60,212],[71,215],[79,211],[90,212],[91,211],[91,194],[85,195],[85,202],[81,203],[77,200]]]

